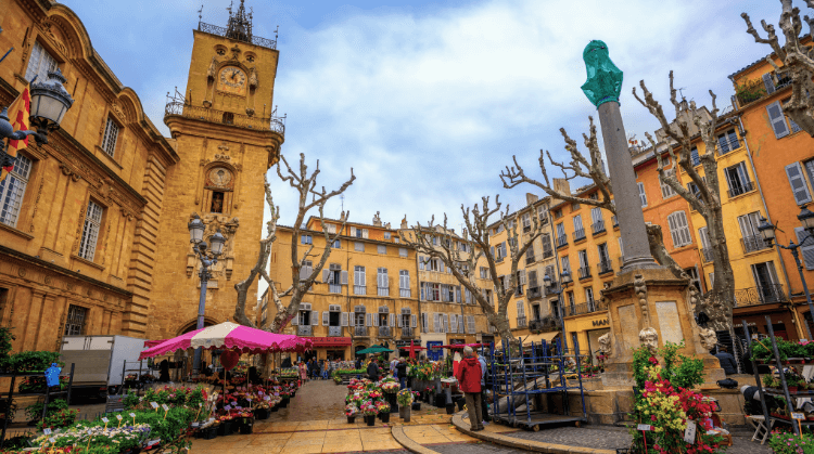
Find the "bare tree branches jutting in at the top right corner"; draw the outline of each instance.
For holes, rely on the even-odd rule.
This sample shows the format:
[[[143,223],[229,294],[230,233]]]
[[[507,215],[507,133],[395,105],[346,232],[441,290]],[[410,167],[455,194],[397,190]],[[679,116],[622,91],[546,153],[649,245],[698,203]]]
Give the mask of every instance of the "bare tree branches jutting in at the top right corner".
[[[783,67],[778,67],[771,55],[766,57],[766,61],[775,68],[775,77],[781,75],[784,78],[788,76],[791,79],[791,99],[784,104],[784,112],[803,131],[814,138],[814,82],[812,81],[812,78],[814,78],[814,47],[812,47],[811,41],[807,44],[800,42],[804,37],[804,35],[802,37],[800,35],[803,28],[802,21],[800,21],[800,9],[792,8],[791,0],[780,0],[780,4],[783,5],[783,13],[780,13],[779,25],[786,38],[784,46],[780,46],[774,25],[761,21],[761,26],[766,31],[766,38],[761,38],[758,30],[752,26],[749,15],[741,13],[740,16],[747,23],[747,33],[754,37],[755,42],[768,44],[780,60]],[[810,9],[814,9],[814,0],[805,0],[805,4]],[[803,20],[809,24],[809,39],[814,39],[814,17],[803,16]]]

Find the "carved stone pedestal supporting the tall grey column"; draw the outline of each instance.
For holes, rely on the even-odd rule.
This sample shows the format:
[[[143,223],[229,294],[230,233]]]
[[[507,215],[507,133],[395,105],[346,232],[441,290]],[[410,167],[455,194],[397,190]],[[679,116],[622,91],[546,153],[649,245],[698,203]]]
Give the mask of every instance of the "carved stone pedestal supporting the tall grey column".
[[[705,382],[725,378],[718,360],[701,345],[687,281],[676,278],[665,268],[638,269],[616,275],[602,297],[608,301],[611,325],[611,356],[605,361],[603,386],[634,385],[633,349],[643,341],[661,348],[665,341],[678,343],[684,339],[681,353],[703,361]],[[643,333],[646,328],[652,330]]]

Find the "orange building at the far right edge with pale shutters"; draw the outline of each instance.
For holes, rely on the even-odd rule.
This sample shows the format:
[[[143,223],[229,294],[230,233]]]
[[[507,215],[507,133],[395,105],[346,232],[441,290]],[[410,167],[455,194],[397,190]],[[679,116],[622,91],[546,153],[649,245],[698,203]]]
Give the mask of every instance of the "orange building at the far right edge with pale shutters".
[[[771,56],[779,64],[776,55]],[[791,81],[784,74],[774,72],[763,59],[739,69],[729,79],[736,91],[733,103],[740,113],[756,181],[768,210],[766,218],[783,229],[776,231],[779,243],[799,243],[804,231],[797,216],[802,207],[814,200],[814,139],[783,113],[783,104],[791,98]],[[806,244],[809,246],[799,251],[803,277],[811,287],[814,284],[814,242],[809,239]],[[804,317],[812,326],[794,258],[789,250],[775,248],[780,254],[778,271],[788,282],[798,320]],[[800,334],[807,337],[803,327]]]

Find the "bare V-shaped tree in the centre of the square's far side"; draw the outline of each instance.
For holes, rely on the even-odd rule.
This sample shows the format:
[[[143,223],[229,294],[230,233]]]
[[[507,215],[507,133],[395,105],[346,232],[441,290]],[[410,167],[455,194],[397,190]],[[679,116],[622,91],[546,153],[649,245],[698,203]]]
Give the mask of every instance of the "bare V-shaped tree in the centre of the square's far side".
[[[471,209],[461,205],[463,221],[467,225],[467,230],[463,232],[463,241],[467,243],[467,250],[470,251],[466,258],[454,246],[453,236],[447,229],[446,215],[444,215],[444,224],[440,232],[435,229],[435,217],[433,216],[425,226],[418,223],[417,228],[414,229],[415,236],[408,234],[408,237],[403,239],[406,244],[415,247],[418,252],[425,254],[430,258],[441,259],[444,265],[451,270],[455,278],[472,294],[472,297],[478,301],[481,309],[483,309],[486,319],[497,329],[504,345],[508,346],[517,343],[517,339],[513,339],[511,335],[509,317],[506,311],[509,300],[518,287],[518,262],[526,249],[534,243],[534,239],[543,233],[543,230],[537,217],[533,216],[533,225],[527,238],[520,244],[518,235],[519,222],[517,222],[517,219],[509,226],[509,206],[507,205],[506,210],[501,211],[501,204],[498,200],[498,196],[495,197],[494,208],[489,207],[488,197],[483,197],[482,200],[480,207],[475,204]],[[507,242],[509,245],[507,258],[511,260],[511,272],[506,280],[498,278],[496,265],[498,260],[489,247],[488,220],[493,215],[500,217],[499,222],[506,230],[509,238]],[[433,244],[433,236],[440,236],[437,247]],[[488,263],[496,303],[486,299],[486,295],[483,291],[485,288],[478,286],[475,272],[478,272],[478,262],[481,257],[485,258]]]

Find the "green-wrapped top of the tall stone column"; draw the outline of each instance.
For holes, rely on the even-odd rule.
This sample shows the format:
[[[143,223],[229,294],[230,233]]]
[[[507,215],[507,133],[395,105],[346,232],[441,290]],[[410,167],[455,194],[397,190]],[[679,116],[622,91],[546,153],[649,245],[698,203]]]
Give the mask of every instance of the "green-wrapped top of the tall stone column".
[[[590,41],[582,57],[588,72],[588,80],[582,86],[582,91],[588,100],[597,107],[611,101],[618,103],[619,93],[622,92],[622,70],[611,62],[608,46],[599,40]]]

